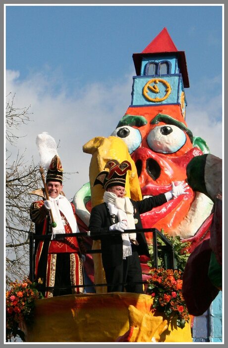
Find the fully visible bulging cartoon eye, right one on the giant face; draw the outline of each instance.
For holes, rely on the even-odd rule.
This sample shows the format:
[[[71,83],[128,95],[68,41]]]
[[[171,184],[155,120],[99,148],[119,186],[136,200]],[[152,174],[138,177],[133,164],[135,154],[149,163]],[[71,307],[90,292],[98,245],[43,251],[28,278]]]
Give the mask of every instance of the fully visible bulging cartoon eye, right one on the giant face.
[[[147,136],[149,147],[162,154],[172,154],[178,151],[185,142],[185,133],[179,127],[169,124],[155,127]]]

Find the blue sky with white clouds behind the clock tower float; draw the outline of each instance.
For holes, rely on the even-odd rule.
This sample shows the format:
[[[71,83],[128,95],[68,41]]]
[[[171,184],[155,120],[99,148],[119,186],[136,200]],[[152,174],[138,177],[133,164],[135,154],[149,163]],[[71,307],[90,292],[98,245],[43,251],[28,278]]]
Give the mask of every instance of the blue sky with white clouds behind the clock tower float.
[[[222,157],[222,18],[221,5],[6,6],[6,94],[33,113],[17,148],[39,161],[36,135],[60,140],[63,168],[79,172],[65,183],[71,198],[88,181],[82,145],[109,136],[130,104],[132,54],[166,27],[186,54],[187,125]]]

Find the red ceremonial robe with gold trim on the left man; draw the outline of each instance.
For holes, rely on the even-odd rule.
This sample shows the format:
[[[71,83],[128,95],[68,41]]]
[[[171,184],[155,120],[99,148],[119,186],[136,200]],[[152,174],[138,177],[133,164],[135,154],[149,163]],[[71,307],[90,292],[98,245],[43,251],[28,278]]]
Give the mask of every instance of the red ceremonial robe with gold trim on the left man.
[[[71,206],[75,215],[75,208],[72,203]],[[61,212],[60,215],[65,233],[72,233],[68,221]],[[51,219],[44,207],[44,200],[31,204],[30,217],[35,223],[36,235],[52,233]],[[34,256],[35,281],[39,283],[40,291],[43,292],[45,297],[83,293],[83,287],[70,288],[72,285],[83,284],[83,263],[76,237],[64,237],[61,240],[36,240]],[[54,286],[68,286],[68,288],[44,290],[45,287]]]

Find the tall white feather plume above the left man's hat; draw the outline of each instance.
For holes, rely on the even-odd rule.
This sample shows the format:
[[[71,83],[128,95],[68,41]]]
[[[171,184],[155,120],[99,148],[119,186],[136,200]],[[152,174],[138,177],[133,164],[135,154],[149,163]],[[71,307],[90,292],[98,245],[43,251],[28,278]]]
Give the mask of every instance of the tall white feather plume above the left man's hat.
[[[48,132],[43,132],[36,137],[36,145],[40,154],[40,165],[48,170],[53,157],[58,155],[56,141]]]

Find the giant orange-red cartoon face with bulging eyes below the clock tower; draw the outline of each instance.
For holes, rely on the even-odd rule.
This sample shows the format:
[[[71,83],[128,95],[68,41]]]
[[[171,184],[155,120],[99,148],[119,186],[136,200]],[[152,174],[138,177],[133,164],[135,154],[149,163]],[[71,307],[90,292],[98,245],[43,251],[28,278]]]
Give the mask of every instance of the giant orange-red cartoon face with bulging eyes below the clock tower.
[[[139,200],[148,195],[169,191],[172,181],[177,183],[185,180],[189,161],[195,156],[202,155],[203,152],[208,152],[208,148],[201,138],[193,137],[180,114],[179,107],[169,105],[169,107],[129,107],[112,136],[90,140],[83,146],[83,151],[92,154],[92,159],[89,169],[90,185],[84,185],[73,200],[80,230],[86,230],[82,222],[87,226],[89,223],[91,208],[89,195],[92,195],[92,206],[103,201],[104,192],[93,187],[93,182],[96,175],[104,170],[108,160],[120,161],[126,158],[133,160],[139,184],[137,180],[131,182],[128,195]],[[136,179],[135,174],[134,179]],[[139,188],[137,192],[136,188]],[[160,231],[163,229],[172,236],[178,235],[197,244],[211,223],[212,207],[213,202],[209,197],[201,192],[193,192],[189,188],[185,194],[176,199],[142,214],[141,219],[144,228],[156,227]],[[151,233],[147,233],[146,238],[148,244],[151,244]],[[99,246],[94,249],[99,249]],[[96,258],[94,257],[94,262],[97,262]],[[100,266],[96,268],[101,270],[102,264],[101,262],[99,264]],[[97,278],[101,279],[102,283],[103,275]]]

